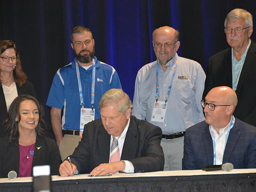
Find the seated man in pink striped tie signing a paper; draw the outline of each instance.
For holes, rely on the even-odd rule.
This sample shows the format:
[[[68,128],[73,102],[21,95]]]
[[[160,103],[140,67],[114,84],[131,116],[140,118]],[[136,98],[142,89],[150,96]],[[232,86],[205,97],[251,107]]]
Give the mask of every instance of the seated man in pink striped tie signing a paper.
[[[162,131],[130,115],[129,96],[110,89],[99,106],[101,119],[85,125],[82,140],[70,156],[72,166],[65,160],[60,175],[85,174],[87,169],[92,175],[163,170]]]

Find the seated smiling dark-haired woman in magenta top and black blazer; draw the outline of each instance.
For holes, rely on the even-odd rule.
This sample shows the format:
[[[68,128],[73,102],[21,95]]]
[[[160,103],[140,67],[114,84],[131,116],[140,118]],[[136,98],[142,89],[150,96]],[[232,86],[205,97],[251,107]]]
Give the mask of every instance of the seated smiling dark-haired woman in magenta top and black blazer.
[[[54,140],[44,137],[42,115],[43,109],[33,96],[14,99],[4,121],[4,138],[0,138],[0,178],[7,178],[10,171],[18,177],[30,177],[37,165],[50,165],[51,175],[58,175],[60,152]]]

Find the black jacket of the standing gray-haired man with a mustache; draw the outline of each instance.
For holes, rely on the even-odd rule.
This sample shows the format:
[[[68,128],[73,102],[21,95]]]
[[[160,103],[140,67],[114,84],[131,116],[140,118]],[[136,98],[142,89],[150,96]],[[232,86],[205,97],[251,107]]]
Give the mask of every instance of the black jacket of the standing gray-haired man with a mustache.
[[[256,44],[251,40],[251,45],[244,60],[236,95],[238,104],[234,116],[238,119],[256,126]],[[228,86],[232,88],[232,52],[231,48],[225,49],[210,57],[206,71],[204,94],[214,87]]]

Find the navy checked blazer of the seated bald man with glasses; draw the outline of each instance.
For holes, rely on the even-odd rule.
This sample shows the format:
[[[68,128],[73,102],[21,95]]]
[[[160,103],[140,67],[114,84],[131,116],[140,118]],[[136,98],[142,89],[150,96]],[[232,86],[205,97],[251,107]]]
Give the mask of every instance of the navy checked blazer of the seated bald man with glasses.
[[[256,168],[256,127],[235,120],[224,150],[222,164],[235,169]],[[191,126],[184,136],[183,170],[200,170],[213,165],[213,145],[209,125],[205,121]]]

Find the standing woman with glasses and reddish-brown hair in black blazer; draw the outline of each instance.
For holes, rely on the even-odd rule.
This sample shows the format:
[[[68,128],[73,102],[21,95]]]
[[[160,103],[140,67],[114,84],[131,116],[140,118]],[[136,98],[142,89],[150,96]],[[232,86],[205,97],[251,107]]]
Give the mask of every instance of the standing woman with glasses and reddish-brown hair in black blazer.
[[[0,41],[0,84],[0,137],[2,137],[2,122],[6,119],[14,98],[21,94],[36,97],[34,86],[22,71],[18,48],[10,40]]]

